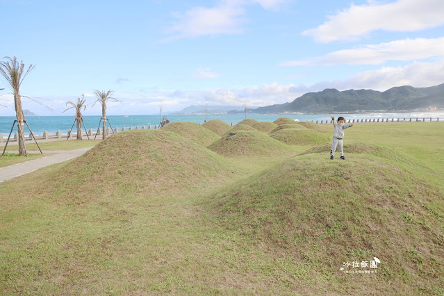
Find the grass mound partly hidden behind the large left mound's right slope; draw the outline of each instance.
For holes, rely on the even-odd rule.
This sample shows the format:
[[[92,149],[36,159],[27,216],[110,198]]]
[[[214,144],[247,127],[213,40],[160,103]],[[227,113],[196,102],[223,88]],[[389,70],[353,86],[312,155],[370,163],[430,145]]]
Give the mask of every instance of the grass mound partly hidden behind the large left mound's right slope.
[[[172,122],[164,126],[162,130],[172,131],[202,146],[208,146],[220,139],[220,135],[194,122]]]

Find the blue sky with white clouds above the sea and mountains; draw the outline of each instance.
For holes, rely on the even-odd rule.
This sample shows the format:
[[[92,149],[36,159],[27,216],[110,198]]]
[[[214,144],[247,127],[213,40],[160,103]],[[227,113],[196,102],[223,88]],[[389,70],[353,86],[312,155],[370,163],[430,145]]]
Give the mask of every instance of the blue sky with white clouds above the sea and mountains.
[[[108,115],[151,115],[444,83],[442,0],[0,0],[0,10],[0,56],[35,65],[20,92],[38,115],[74,115],[63,110],[81,94],[83,115],[100,115],[94,90],[120,100]],[[0,116],[15,115],[0,88]]]

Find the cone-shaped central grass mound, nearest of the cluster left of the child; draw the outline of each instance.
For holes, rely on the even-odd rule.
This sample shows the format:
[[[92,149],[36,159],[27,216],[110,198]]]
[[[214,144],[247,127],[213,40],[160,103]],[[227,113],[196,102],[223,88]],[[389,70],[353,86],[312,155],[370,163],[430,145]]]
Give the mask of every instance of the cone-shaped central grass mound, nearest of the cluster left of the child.
[[[260,131],[230,131],[208,149],[222,156],[272,156],[290,153],[291,147]]]

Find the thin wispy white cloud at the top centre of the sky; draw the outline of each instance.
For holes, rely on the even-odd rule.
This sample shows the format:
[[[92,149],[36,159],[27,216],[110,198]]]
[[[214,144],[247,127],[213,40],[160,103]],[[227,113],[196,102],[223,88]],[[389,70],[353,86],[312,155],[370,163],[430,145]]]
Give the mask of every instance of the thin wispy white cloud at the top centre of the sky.
[[[277,10],[285,0],[224,0],[213,8],[197,6],[184,13],[173,13],[176,22],[163,42],[203,35],[239,34],[245,23],[245,6],[260,4],[264,9]]]

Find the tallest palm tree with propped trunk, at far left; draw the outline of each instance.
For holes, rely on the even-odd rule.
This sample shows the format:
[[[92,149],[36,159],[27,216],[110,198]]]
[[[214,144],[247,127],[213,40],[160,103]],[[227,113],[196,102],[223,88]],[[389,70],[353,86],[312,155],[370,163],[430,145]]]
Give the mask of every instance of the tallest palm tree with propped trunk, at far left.
[[[26,155],[26,145],[24,141],[24,114],[22,110],[22,96],[20,95],[20,85],[24,81],[29,72],[34,69],[34,65],[29,65],[28,69],[24,71],[24,63],[17,61],[16,57],[10,58],[5,56],[8,61],[0,62],[0,74],[5,79],[6,83],[13,91],[15,114],[17,116],[18,142],[19,142],[19,156]]]

